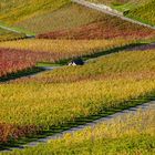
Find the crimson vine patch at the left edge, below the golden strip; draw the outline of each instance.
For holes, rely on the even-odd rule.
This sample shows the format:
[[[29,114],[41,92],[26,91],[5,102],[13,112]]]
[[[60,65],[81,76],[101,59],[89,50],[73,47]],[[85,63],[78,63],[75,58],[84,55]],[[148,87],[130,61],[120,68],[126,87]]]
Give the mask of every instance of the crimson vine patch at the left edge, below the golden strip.
[[[56,53],[0,49],[0,76],[33,68],[37,62],[54,62]]]

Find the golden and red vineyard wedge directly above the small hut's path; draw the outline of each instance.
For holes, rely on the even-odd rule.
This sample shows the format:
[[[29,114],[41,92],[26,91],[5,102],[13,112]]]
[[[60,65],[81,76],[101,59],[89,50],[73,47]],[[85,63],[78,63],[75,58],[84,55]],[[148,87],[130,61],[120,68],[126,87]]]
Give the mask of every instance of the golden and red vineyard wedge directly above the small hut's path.
[[[54,63],[74,56],[104,53],[104,51],[106,52],[110,49],[134,42],[130,40],[20,40],[2,42],[0,43],[2,46],[0,49],[0,76],[7,76],[8,74],[33,68],[38,62]]]

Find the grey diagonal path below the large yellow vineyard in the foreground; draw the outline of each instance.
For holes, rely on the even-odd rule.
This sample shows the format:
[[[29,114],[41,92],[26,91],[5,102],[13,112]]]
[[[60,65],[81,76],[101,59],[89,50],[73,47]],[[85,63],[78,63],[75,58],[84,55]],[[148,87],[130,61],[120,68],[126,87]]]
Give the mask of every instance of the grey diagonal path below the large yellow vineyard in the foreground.
[[[8,149],[4,149],[4,151],[0,151],[0,153],[7,153],[7,152],[11,152],[11,151],[14,151],[14,149],[24,149],[27,147],[34,147],[34,146],[38,146],[39,144],[44,144],[44,143],[48,143],[49,141],[51,140],[58,140],[58,138],[61,138],[63,137],[64,134],[69,133],[69,134],[73,134],[75,132],[79,132],[79,131],[82,131],[84,130],[85,127],[95,127],[96,124],[99,123],[106,123],[108,121],[112,121],[116,117],[123,117],[125,116],[126,114],[134,114],[136,112],[138,112],[140,110],[141,111],[145,111],[147,108],[154,108],[155,107],[155,101],[151,101],[148,103],[144,103],[142,105],[137,105],[135,107],[131,107],[128,110],[124,110],[122,112],[117,112],[115,114],[112,114],[112,115],[108,115],[108,116],[105,116],[105,117],[101,117],[99,120],[95,120],[95,121],[92,121],[92,122],[89,122],[84,125],[79,125],[76,127],[72,127],[70,130],[66,130],[66,131],[63,131],[61,133],[58,133],[58,134],[53,134],[51,136],[46,136],[44,138],[39,138],[38,141],[35,142],[31,142],[31,143],[28,143],[25,145],[21,145],[19,147],[12,147],[12,148],[8,148]]]

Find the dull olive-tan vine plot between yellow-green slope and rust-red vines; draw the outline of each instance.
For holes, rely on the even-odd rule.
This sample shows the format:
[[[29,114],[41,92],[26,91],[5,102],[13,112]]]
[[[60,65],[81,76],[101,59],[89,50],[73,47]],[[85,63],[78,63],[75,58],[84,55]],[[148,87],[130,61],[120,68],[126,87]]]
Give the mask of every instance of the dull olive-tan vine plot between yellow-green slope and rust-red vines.
[[[56,11],[50,11],[41,16],[34,16],[16,23],[35,33],[44,33],[54,30],[71,29],[84,25],[102,19],[102,13],[85,7],[69,3]]]

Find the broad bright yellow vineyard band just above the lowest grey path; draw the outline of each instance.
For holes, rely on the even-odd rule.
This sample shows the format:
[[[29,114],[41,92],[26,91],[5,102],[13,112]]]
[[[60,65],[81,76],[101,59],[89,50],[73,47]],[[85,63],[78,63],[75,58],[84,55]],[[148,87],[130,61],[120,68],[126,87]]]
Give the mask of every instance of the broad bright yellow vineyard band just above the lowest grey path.
[[[0,121],[4,124],[1,130],[6,128],[2,130],[1,143],[18,138],[14,133],[18,128],[23,128],[20,130],[21,136],[31,135],[32,131],[24,134],[24,128],[35,127],[34,134],[73,122],[78,117],[91,116],[112,107],[118,108],[126,101],[148,95],[154,90],[155,81],[148,79],[1,85]]]

